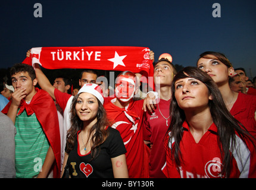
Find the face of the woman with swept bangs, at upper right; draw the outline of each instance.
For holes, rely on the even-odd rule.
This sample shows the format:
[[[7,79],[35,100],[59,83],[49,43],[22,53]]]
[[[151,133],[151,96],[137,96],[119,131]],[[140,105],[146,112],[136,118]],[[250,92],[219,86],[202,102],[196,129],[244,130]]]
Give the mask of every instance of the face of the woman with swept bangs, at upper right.
[[[209,58],[200,58],[197,67],[210,75],[217,84],[228,83],[229,75],[233,75],[233,68],[227,68],[213,55],[209,55]]]

